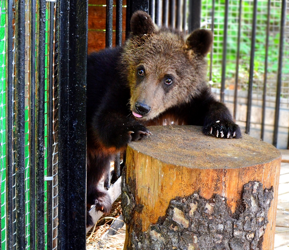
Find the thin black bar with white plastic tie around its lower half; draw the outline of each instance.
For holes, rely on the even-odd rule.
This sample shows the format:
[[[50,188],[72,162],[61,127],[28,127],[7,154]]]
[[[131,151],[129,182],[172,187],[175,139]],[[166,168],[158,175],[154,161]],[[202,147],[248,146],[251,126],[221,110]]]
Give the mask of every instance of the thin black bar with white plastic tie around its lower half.
[[[54,47],[54,2],[49,2],[49,43],[47,82],[47,176],[53,176],[53,47]],[[53,247],[53,180],[47,181],[47,249]]]

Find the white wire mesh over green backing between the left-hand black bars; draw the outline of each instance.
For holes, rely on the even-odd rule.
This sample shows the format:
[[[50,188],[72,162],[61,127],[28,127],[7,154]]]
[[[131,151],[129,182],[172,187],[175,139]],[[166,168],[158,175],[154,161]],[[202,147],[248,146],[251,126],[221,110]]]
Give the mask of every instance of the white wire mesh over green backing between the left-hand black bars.
[[[52,38],[58,38],[57,34],[55,34],[55,28],[58,27],[58,19],[55,19],[55,14],[56,14],[56,5],[58,3],[49,1],[47,2],[47,9],[46,9],[46,36],[45,36],[45,175],[47,175],[47,143],[48,143],[48,131],[47,131],[47,106],[48,106],[48,93],[47,93],[47,82],[49,78],[49,74],[53,74],[52,79],[53,79],[53,96],[50,96],[50,100],[53,103],[53,117],[51,117],[51,120],[53,120],[53,144],[52,144],[52,163],[51,167],[53,168],[53,189],[51,190],[51,198],[53,199],[52,201],[52,207],[53,207],[53,225],[51,228],[53,228],[53,249],[57,248],[57,225],[58,225],[58,178],[57,178],[57,172],[58,172],[58,48],[57,46],[55,47],[55,44],[58,44],[58,41],[52,40],[52,44],[49,43],[48,41],[48,35],[49,32],[49,24],[52,22],[52,30],[50,31]],[[12,18],[14,19],[12,21],[12,25],[15,26],[15,1],[12,2]],[[49,16],[49,8],[52,6],[52,16]],[[11,9],[11,10],[12,10]],[[29,218],[29,122],[30,122],[30,117],[29,117],[29,103],[30,103],[30,96],[29,96],[29,86],[30,86],[30,75],[33,74],[35,71],[32,69],[32,71],[29,71],[29,64],[30,64],[30,46],[29,46],[29,40],[30,40],[30,21],[29,21],[29,15],[30,15],[30,0],[25,0],[25,148],[24,148],[24,159],[25,159],[25,172],[24,172],[24,178],[25,178],[25,184],[24,184],[24,189],[25,189],[25,239],[26,239],[26,244],[25,244],[25,249],[30,249],[30,218]],[[1,241],[0,241],[0,249],[16,249],[16,217],[15,217],[15,137],[14,137],[14,131],[15,131],[15,124],[13,124],[13,129],[12,129],[12,244],[9,244],[7,242],[7,207],[6,207],[6,188],[7,188],[7,180],[6,180],[6,114],[5,114],[5,108],[7,105],[12,105],[13,109],[13,120],[15,120],[15,87],[14,87],[14,81],[15,81],[15,72],[12,70],[12,100],[10,103],[6,103],[6,82],[5,82],[5,61],[6,61],[6,50],[5,50],[5,42],[6,42],[6,9],[5,9],[5,1],[1,1],[1,6],[0,6],[0,170],[1,170],[1,176],[0,176],[0,191],[1,191]],[[57,23],[57,24],[56,24]],[[35,25],[35,24],[34,24]],[[15,30],[14,27],[12,30]],[[57,32],[57,30],[56,30]],[[51,48],[53,50],[53,57],[49,58],[48,57],[48,47],[51,45]],[[52,59],[52,60],[51,60]],[[15,68],[15,39],[14,39],[14,34],[12,35],[12,68]],[[53,71],[50,72],[47,67],[51,61],[51,65],[53,67]],[[47,193],[47,182],[45,182],[45,192]],[[47,248],[47,199],[46,197],[49,195],[45,195],[45,245]],[[34,223],[34,221],[33,221]],[[52,249],[52,248],[51,248]]]

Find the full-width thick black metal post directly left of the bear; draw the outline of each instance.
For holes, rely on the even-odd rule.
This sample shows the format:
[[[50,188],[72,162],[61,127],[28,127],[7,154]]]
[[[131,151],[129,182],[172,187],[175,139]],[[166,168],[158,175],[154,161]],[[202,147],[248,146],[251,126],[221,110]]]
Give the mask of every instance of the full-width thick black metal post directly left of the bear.
[[[58,249],[81,250],[85,249],[86,245],[85,101],[88,2],[61,1],[59,13]]]

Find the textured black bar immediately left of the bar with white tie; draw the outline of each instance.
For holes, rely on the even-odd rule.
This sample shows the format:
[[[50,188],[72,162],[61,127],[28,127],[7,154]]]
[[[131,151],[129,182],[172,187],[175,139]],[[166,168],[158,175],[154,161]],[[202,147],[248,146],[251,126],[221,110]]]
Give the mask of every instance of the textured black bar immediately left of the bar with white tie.
[[[44,157],[45,157],[45,11],[46,1],[37,0],[36,20],[36,249],[45,249]]]

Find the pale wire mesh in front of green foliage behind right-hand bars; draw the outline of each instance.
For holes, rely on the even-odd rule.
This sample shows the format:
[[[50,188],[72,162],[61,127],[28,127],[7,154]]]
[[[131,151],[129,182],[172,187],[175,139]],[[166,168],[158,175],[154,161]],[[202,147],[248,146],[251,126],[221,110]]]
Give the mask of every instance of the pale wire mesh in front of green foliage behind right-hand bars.
[[[228,36],[227,36],[227,58],[226,58],[226,89],[234,89],[236,74],[236,52],[237,52],[237,33],[238,33],[238,11],[240,1],[229,1],[228,15]],[[288,7],[287,7],[288,8]],[[254,77],[253,77],[253,98],[262,101],[264,85],[264,64],[265,64],[265,37],[267,27],[267,10],[268,1],[258,0],[257,7],[257,31],[254,60]],[[224,12],[225,0],[216,0],[214,9],[214,45],[213,45],[213,68],[212,84],[213,88],[221,87],[221,63],[223,55],[223,30],[224,30]],[[269,28],[269,55],[268,55],[268,80],[267,96],[268,105],[275,105],[277,67],[279,56],[279,33],[280,33],[281,1],[271,1],[270,28]],[[253,1],[242,1],[241,15],[241,41],[240,41],[240,65],[238,74],[239,90],[248,90],[249,79],[249,61],[251,46],[251,29],[253,18]],[[201,26],[211,29],[212,23],[212,0],[202,1],[202,22]],[[288,15],[286,25],[285,49],[282,69],[283,81],[281,91],[281,103],[288,104],[288,83],[289,83],[289,30]],[[208,56],[210,63],[210,56]]]

